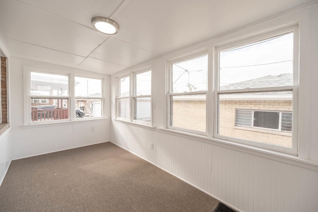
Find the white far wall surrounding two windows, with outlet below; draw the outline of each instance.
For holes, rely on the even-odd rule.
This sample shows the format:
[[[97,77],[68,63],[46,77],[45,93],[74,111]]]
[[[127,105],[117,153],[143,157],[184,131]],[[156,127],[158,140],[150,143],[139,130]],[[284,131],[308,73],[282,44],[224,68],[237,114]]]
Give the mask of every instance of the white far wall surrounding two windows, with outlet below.
[[[11,57],[9,81],[12,160],[110,140],[110,119],[23,126],[25,89],[23,88],[23,65],[48,71],[58,70],[66,73],[96,76],[96,74],[78,69]],[[106,96],[109,97],[109,76],[103,75],[102,77],[105,78]],[[106,102],[106,108],[106,114],[109,116],[109,101]],[[92,127],[94,127],[94,131],[91,130]]]

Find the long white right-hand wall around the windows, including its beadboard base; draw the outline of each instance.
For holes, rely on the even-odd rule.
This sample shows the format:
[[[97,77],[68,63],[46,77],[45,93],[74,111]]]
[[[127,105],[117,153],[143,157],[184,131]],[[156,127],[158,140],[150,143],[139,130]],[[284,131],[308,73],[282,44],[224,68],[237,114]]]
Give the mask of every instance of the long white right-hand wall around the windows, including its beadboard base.
[[[289,22],[300,24],[299,155],[164,129],[166,60]],[[273,16],[154,60],[154,126],[112,120],[111,141],[244,212],[318,212],[318,3]],[[142,65],[140,65],[142,66]],[[133,67],[126,72],[138,69]],[[120,73],[120,74],[124,74]],[[112,117],[115,117],[115,76]],[[154,149],[150,149],[154,143]]]

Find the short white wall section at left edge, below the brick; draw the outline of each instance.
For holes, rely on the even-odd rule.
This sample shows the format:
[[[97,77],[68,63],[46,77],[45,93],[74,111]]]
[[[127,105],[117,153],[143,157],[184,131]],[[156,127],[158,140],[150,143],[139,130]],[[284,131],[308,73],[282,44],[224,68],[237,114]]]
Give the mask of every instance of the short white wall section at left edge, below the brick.
[[[0,185],[11,162],[10,130],[0,135]]]

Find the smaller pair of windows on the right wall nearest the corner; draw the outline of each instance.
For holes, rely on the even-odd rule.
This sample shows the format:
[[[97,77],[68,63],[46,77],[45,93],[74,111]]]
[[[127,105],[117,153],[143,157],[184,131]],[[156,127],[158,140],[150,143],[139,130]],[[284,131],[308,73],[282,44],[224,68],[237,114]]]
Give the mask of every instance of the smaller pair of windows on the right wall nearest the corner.
[[[151,125],[151,85],[150,69],[117,78],[117,118]]]

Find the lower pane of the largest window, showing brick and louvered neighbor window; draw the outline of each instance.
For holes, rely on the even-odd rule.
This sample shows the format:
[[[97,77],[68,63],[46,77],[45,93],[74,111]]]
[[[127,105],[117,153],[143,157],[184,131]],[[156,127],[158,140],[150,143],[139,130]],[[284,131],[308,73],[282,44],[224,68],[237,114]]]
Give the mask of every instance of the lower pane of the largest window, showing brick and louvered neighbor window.
[[[218,134],[292,147],[292,133],[278,130],[279,111],[292,112],[291,91],[220,94]]]

